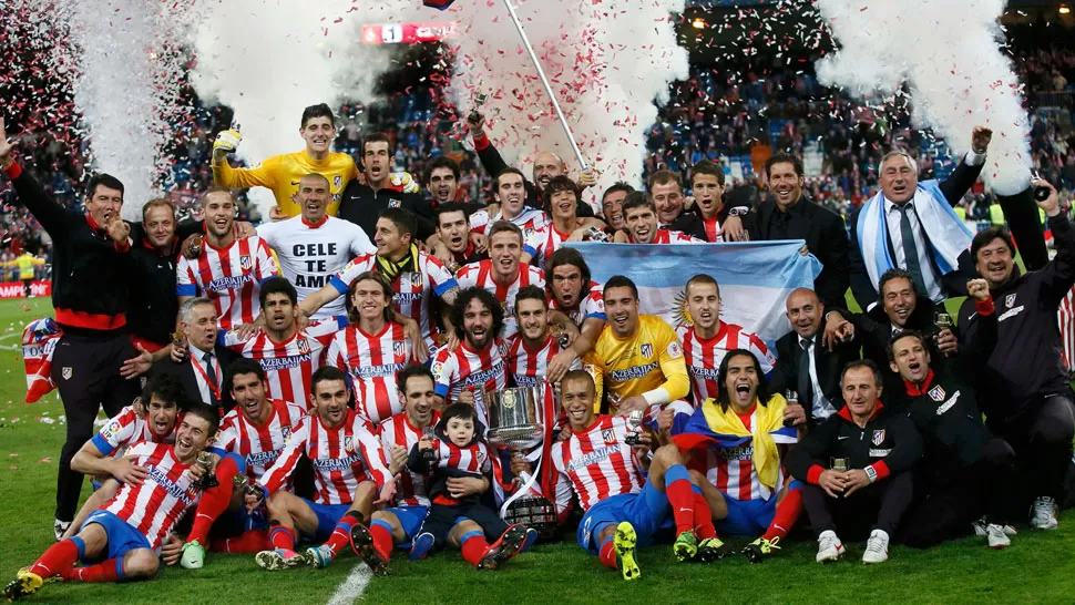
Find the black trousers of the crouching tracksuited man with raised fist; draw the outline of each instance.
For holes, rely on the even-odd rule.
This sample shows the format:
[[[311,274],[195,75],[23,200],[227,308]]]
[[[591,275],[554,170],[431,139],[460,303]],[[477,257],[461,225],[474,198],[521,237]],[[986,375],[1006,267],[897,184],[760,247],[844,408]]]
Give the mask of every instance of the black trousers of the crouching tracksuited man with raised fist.
[[[1020,502],[1015,450],[1003,439],[993,438],[975,464],[934,481],[930,493],[915,502],[903,521],[902,541],[908,546],[928,548],[962,537],[983,514],[990,523],[1003,525]]]

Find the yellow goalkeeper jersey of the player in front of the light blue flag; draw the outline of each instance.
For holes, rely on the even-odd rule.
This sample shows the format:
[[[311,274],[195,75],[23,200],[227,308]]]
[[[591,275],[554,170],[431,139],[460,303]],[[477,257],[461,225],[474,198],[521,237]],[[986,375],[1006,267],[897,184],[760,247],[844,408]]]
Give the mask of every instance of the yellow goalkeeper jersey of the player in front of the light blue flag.
[[[690,389],[676,331],[653,315],[639,315],[638,331],[624,340],[615,337],[612,326],[605,326],[583,365],[597,386],[595,406],[601,404],[605,389],[625,399],[664,388],[669,401],[687,397]]]

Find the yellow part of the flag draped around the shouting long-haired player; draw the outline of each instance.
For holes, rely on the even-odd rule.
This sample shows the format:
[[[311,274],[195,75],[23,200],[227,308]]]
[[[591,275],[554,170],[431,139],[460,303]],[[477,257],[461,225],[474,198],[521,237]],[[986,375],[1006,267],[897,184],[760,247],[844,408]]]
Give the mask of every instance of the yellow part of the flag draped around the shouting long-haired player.
[[[770,491],[776,490],[777,479],[780,476],[780,452],[777,451],[777,442],[770,433],[784,428],[784,410],[787,407],[788,401],[781,394],[770,397],[767,406],[758,403],[755,407],[754,430],[749,431],[733,406],[728,406],[728,411],[723,411],[715,399],[707,399],[702,404],[702,411],[713,432],[754,439],[751,461],[758,472],[758,480]]]

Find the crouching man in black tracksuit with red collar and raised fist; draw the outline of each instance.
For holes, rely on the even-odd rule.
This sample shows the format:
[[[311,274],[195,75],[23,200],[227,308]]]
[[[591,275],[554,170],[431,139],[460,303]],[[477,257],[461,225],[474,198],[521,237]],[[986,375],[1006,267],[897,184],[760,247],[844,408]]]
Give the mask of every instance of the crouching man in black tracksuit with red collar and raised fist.
[[[985,428],[972,387],[993,352],[996,315],[984,279],[971,280],[968,289],[976,300],[981,348],[964,349],[954,363],[931,365],[928,337],[920,332],[905,331],[889,346],[890,363],[904,381],[895,397],[907,400],[903,408],[925,450],[915,475],[917,505],[903,524],[909,546],[966,535],[983,513],[990,547],[1011,545],[1005,526],[1017,502],[1015,450]]]

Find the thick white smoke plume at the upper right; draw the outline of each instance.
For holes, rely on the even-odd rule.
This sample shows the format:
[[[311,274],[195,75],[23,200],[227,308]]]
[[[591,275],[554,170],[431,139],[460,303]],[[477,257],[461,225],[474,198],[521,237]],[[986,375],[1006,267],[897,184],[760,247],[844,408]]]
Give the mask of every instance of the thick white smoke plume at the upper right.
[[[841,50],[818,79],[858,96],[907,83],[915,125],[933,127],[959,153],[971,132],[993,130],[982,175],[1002,195],[1030,184],[1030,126],[1012,62],[999,48],[1006,0],[817,0]]]

